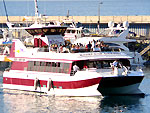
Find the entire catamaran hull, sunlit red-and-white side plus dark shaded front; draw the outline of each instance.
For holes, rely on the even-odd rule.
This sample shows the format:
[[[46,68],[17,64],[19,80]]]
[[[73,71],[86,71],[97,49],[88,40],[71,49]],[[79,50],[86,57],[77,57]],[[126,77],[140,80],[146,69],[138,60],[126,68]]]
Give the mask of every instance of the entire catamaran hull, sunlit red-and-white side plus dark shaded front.
[[[36,75],[39,74],[37,77]],[[82,78],[83,77],[83,78]],[[55,96],[108,96],[143,94],[139,85],[144,76],[85,77],[4,72],[3,88],[44,92]],[[38,78],[38,79],[37,79]],[[49,79],[51,78],[51,79]],[[37,79],[37,80],[36,80]]]

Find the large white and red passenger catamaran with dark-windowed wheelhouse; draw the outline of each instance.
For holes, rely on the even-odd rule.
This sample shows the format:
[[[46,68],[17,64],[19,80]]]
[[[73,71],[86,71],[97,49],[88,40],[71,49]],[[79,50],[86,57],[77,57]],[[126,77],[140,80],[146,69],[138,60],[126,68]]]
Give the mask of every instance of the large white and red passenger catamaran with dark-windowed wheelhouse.
[[[142,70],[131,71],[130,56],[121,52],[60,53],[51,44],[63,44],[66,27],[26,28],[34,36],[34,47],[14,39],[7,57],[10,69],[3,73],[3,88],[44,92],[56,96],[99,96],[143,94],[139,85]],[[122,68],[110,63],[118,60]],[[80,69],[75,73],[73,66]],[[85,67],[85,68],[84,68]]]

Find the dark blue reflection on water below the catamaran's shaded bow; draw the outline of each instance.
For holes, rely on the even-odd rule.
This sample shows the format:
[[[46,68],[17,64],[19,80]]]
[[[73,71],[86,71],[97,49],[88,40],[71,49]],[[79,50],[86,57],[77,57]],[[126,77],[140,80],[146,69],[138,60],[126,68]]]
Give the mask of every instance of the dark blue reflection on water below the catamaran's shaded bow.
[[[101,100],[101,112],[143,112],[140,96],[113,96]],[[135,109],[136,108],[136,109]]]

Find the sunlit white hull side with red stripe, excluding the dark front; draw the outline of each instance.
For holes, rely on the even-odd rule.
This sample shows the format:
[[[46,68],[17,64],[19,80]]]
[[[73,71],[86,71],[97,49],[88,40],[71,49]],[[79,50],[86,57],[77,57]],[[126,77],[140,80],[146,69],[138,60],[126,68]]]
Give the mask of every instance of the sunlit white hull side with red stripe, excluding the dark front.
[[[55,96],[100,96],[97,90],[102,77],[78,76],[53,76],[52,74],[4,72],[3,88],[13,90],[23,90],[32,92],[43,92]],[[35,88],[35,80],[38,78],[38,85]],[[51,83],[48,84],[49,78]],[[50,86],[49,86],[50,85]],[[50,87],[50,88],[48,88]]]

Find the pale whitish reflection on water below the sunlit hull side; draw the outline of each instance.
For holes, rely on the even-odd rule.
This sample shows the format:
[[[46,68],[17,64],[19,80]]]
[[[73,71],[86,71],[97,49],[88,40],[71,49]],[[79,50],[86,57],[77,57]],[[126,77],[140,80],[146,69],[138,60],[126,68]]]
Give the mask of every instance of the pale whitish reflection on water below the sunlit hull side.
[[[35,93],[4,91],[4,107],[13,113],[98,112],[100,97],[54,97]],[[5,112],[7,112],[5,110]]]

